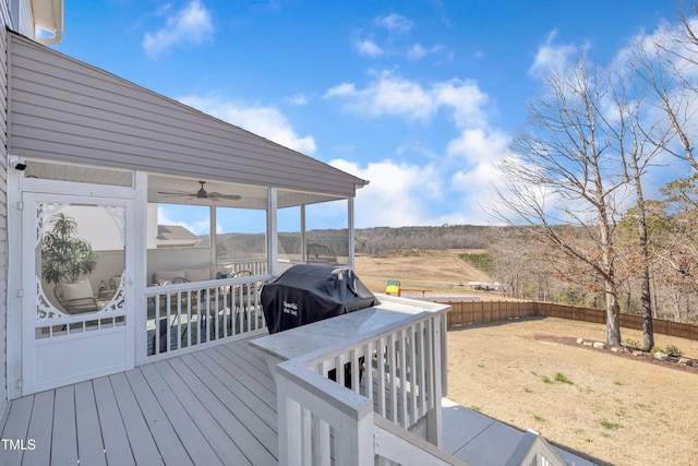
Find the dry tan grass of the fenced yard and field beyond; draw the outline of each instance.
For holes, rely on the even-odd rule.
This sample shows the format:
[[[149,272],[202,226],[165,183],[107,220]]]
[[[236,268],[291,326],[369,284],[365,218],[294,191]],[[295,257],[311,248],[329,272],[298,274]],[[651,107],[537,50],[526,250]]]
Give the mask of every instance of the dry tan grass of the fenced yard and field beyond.
[[[357,275],[376,292],[393,278],[434,295],[498,298],[468,289],[489,277],[456,252],[358,258]],[[450,330],[448,397],[599,464],[698,465],[696,371],[554,343],[559,337],[604,340],[605,326],[547,318]],[[641,333],[624,328],[622,337],[639,342]],[[698,342],[655,339],[698,358]]]

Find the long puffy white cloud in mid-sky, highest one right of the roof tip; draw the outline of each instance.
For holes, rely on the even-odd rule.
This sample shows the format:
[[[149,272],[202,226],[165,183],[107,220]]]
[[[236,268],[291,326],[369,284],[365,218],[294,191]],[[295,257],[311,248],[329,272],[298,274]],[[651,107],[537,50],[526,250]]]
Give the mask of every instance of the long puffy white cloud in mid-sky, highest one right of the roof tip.
[[[380,73],[363,89],[342,83],[325,93],[325,98],[339,98],[346,111],[375,118],[399,116],[428,122],[441,108],[453,111],[456,124],[478,124],[484,120],[482,107],[488,95],[472,81],[450,80],[423,86],[389,71]]]

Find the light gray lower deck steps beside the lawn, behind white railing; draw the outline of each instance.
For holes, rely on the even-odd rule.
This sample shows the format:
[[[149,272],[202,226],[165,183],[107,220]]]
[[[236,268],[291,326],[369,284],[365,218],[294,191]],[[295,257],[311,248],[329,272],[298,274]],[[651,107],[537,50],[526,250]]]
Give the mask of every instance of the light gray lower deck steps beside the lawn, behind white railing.
[[[530,431],[520,431],[448,398],[443,399],[442,414],[443,425],[448,427],[443,432],[442,449],[470,466],[506,465],[517,447],[531,437]],[[551,446],[567,465],[594,465],[571,452]]]

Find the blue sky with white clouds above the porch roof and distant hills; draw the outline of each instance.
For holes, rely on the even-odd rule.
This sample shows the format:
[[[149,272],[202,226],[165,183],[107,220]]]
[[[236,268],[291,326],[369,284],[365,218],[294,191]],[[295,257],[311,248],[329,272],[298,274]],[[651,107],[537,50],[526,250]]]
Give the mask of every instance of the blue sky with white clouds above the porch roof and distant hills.
[[[55,48],[370,180],[356,226],[476,224],[545,70],[672,0],[71,0]]]

